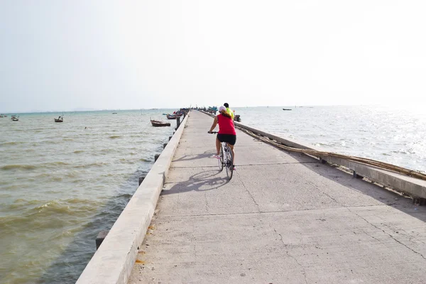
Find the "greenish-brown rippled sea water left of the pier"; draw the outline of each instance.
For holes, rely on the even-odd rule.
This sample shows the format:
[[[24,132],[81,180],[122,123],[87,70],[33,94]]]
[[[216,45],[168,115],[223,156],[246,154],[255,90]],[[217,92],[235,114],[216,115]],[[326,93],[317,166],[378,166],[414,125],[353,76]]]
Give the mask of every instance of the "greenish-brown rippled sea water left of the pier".
[[[75,283],[173,134],[150,117],[170,111],[0,118],[0,283]]]

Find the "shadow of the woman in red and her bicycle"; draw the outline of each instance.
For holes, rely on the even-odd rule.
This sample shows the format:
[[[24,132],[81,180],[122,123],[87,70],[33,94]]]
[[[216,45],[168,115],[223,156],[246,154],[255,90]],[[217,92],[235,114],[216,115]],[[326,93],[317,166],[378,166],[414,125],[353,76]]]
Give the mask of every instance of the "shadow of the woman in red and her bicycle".
[[[190,192],[190,191],[207,191],[207,190],[216,190],[219,187],[222,187],[226,185],[229,180],[225,177],[219,177],[218,175],[222,173],[219,172],[219,170],[212,169],[212,170],[206,170],[201,173],[196,173],[195,175],[190,176],[188,180],[178,182],[170,189],[163,190],[161,192],[161,195],[173,195],[175,193],[183,193],[183,192]],[[170,182],[173,183],[173,182]],[[167,186],[167,182],[165,184],[165,187]]]

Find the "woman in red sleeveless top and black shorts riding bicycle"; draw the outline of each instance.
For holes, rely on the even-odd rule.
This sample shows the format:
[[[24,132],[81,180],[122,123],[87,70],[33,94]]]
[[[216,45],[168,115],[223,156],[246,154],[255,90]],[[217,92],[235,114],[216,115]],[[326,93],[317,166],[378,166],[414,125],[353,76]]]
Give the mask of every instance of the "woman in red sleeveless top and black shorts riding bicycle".
[[[231,115],[226,111],[226,107],[219,107],[219,114],[214,116],[212,127],[210,127],[209,133],[212,133],[213,129],[219,124],[219,132],[216,137],[216,155],[214,158],[220,158],[220,143],[226,142],[228,143],[229,148],[232,151],[232,157],[234,160],[232,161],[232,165],[235,167],[235,152],[234,145],[236,142],[236,132],[234,127],[234,121],[231,119]]]

